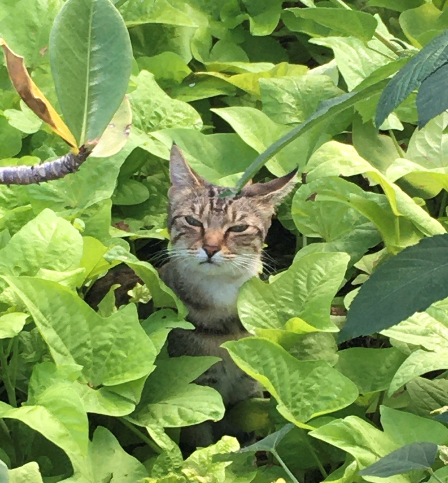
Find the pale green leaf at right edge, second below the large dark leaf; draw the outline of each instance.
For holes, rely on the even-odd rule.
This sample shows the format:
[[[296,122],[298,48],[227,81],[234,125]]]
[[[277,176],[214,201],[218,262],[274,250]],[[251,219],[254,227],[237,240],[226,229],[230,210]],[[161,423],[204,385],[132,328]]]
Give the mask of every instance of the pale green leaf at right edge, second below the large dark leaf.
[[[417,376],[433,370],[448,368],[448,354],[446,352],[428,352],[418,350],[413,352],[397,370],[389,388],[389,395],[394,394],[400,387]]]

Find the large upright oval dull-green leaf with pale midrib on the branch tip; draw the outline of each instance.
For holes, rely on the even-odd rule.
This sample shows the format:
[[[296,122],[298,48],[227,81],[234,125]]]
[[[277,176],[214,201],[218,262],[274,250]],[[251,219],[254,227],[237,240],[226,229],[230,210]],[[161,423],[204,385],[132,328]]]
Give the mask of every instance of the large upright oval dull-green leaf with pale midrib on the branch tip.
[[[132,49],[125,23],[109,0],[68,0],[51,29],[49,53],[65,122],[80,146],[92,142],[128,88]]]

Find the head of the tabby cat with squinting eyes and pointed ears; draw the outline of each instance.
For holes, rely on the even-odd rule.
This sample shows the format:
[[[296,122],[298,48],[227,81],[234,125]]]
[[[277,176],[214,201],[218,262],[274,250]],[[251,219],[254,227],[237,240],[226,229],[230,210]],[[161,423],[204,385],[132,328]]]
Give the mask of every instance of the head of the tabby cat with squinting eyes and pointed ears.
[[[172,259],[204,277],[247,279],[258,273],[275,206],[293,189],[296,171],[220,198],[226,188],[199,176],[173,144],[168,192]]]

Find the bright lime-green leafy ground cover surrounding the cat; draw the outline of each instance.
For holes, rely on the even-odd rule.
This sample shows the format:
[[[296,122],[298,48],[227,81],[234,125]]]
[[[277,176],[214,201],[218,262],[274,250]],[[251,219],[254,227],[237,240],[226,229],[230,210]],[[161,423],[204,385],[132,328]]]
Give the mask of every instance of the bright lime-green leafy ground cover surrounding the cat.
[[[59,112],[60,79],[47,47],[63,3],[0,3],[0,35]],[[116,7],[133,52],[126,145],[58,181],[0,186],[0,459],[12,469],[0,466],[0,482],[427,479],[423,469],[387,480],[357,473],[407,444],[448,444],[448,428],[433,413],[448,405],[447,300],[376,336],[338,346],[337,335],[377,266],[446,232],[447,114],[418,130],[412,93],[378,133],[378,91],[307,130],[255,176],[297,165],[301,174],[268,236],[266,272],[238,301],[255,337],[226,344],[270,394],[232,412],[260,438],[281,430],[259,446],[234,453],[238,442],[225,437],[183,459],[179,428],[220,419],[224,408],[216,391],[192,384],[216,358],[166,353],[169,331],[192,326],[154,266],[168,243],[173,141],[207,180],[234,186],[322,101],[405,65],[448,28],[448,2],[118,0]],[[70,97],[70,82],[62,87]],[[20,101],[6,67],[0,109],[1,166],[67,152]],[[122,263],[145,285],[119,310],[113,285],[95,312],[84,301],[90,287]],[[136,304],[150,299],[159,310],[139,320]],[[433,469],[446,481],[441,460]]]

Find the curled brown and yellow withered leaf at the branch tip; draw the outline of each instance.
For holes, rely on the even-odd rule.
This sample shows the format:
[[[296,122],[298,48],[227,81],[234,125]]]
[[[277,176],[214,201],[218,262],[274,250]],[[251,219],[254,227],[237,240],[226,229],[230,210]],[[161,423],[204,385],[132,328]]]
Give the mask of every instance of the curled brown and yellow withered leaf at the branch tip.
[[[25,67],[23,57],[15,54],[1,38],[0,45],[5,53],[6,67],[11,82],[19,96],[37,116],[46,122],[67,144],[72,146],[74,153],[77,154],[78,146],[72,132],[59,117],[48,99],[45,98],[39,87],[34,84]]]

